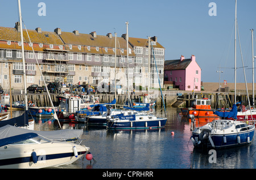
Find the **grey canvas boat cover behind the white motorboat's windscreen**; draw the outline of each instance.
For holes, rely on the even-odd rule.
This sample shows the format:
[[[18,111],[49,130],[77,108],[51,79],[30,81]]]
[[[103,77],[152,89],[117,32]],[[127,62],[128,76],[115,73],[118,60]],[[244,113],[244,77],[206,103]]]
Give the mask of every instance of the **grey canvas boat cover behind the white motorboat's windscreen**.
[[[0,127],[0,139],[9,138],[11,136],[26,134],[26,133],[36,133],[50,140],[67,140],[73,138],[79,138],[83,130],[56,130],[56,131],[34,131],[26,130],[24,128],[15,127],[11,125],[6,125]]]

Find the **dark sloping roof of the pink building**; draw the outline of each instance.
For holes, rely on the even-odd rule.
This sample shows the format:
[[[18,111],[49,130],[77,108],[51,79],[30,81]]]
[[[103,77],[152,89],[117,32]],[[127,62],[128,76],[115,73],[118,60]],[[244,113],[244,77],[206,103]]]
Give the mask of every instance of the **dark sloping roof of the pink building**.
[[[164,61],[164,70],[185,70],[191,63],[191,59],[180,59]]]

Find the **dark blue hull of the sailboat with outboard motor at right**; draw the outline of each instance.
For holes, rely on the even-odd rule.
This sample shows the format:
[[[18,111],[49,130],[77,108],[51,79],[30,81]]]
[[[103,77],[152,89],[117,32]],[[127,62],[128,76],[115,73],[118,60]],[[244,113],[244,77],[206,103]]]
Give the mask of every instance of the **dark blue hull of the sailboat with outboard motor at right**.
[[[225,134],[225,135],[212,135],[212,141],[214,144],[214,148],[228,148],[228,147],[235,147],[240,146],[244,144],[249,144],[253,140],[254,136],[254,130],[242,132],[242,133],[235,133],[235,134]],[[225,137],[225,138],[224,138]],[[248,137],[250,139],[248,139]],[[192,134],[191,138],[199,139],[199,134]],[[224,140],[226,139],[226,140]],[[201,142],[199,145],[197,145],[196,148],[207,148],[208,147],[208,139]]]

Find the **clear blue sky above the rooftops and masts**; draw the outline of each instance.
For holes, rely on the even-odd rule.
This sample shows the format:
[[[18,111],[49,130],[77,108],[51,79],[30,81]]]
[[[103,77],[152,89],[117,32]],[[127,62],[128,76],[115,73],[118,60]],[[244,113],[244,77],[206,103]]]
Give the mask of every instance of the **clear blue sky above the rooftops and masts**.
[[[97,35],[117,32],[120,37],[126,33],[125,22],[128,21],[130,37],[158,37],[158,42],[166,48],[166,60],[179,59],[180,55],[185,58],[195,55],[202,69],[203,82],[218,82],[218,67],[224,71],[221,83],[223,80],[234,82],[235,0],[20,1],[27,29],[41,27],[43,31],[53,31],[61,28],[65,32],[96,31]],[[247,66],[247,83],[251,83],[250,29],[256,29],[256,1],[237,1],[243,62]],[[46,4],[46,16],[38,15],[39,2]],[[216,3],[216,16],[208,13],[210,2]],[[0,26],[14,27],[17,21],[17,1],[0,0]],[[255,38],[254,42],[256,47]],[[237,67],[242,67],[238,37]],[[237,70],[237,82],[244,82],[242,68]]]

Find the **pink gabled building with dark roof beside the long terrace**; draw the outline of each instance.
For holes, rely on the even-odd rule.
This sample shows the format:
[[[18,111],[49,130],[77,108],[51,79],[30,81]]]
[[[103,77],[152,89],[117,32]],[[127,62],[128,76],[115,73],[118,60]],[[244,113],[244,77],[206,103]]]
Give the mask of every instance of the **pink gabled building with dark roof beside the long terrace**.
[[[185,59],[164,61],[164,81],[172,82],[174,88],[184,91],[201,90],[201,68],[196,63],[195,55]]]

